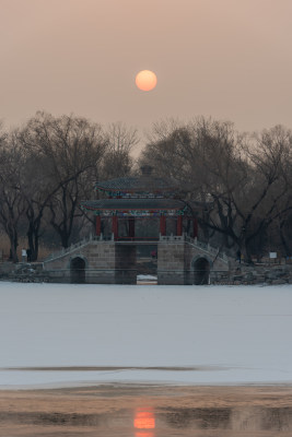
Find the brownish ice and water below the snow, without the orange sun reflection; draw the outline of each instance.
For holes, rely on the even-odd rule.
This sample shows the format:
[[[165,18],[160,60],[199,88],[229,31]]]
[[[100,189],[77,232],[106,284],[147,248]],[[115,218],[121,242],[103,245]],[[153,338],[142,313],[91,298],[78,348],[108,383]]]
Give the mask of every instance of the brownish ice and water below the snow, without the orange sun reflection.
[[[292,385],[1,390],[0,436],[142,436],[133,428],[138,411],[154,417],[155,434],[149,436],[155,437],[207,437],[214,429],[219,436],[291,436]]]

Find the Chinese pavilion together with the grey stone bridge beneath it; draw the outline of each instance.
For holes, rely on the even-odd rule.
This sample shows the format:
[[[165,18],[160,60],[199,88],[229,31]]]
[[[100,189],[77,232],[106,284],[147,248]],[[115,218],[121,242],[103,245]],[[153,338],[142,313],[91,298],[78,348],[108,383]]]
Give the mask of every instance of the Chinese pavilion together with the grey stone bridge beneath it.
[[[174,180],[144,167],[141,176],[98,181],[95,188],[97,199],[81,203],[95,216],[95,235],[45,261],[55,281],[136,284],[141,259],[151,252],[157,284],[208,284],[215,269],[229,271],[219,249],[197,240],[201,206],[184,201]]]

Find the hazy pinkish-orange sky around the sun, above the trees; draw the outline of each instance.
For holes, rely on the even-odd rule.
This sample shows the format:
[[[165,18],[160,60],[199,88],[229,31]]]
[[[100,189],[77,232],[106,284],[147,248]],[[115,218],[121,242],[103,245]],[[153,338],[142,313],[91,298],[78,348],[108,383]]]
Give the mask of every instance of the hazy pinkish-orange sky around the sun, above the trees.
[[[0,0],[0,118],[292,128],[291,0]],[[139,70],[157,86],[141,92]]]

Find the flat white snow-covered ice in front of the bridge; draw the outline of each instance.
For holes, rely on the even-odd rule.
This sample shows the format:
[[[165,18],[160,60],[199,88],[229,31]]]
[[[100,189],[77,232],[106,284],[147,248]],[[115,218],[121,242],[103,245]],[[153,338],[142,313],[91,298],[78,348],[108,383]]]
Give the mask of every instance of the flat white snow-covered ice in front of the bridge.
[[[292,286],[0,283],[1,388],[114,381],[291,383]]]

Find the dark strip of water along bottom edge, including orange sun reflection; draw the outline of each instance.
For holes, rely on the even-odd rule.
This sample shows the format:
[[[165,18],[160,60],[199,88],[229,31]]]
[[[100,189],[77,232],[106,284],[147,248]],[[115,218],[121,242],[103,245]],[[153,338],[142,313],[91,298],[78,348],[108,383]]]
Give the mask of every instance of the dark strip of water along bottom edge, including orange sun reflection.
[[[94,408],[91,403],[89,410],[72,413],[71,410],[56,411],[55,400],[54,410],[50,404],[50,408],[40,412],[36,398],[32,403],[34,409],[31,411],[27,411],[26,395],[17,399],[17,402],[20,401],[21,404],[16,404],[19,409],[15,409],[14,404],[13,410],[12,403],[5,410],[5,402],[2,400],[0,436],[71,436],[70,429],[72,430],[73,427],[75,436],[84,437],[93,435],[103,437],[292,437],[292,406],[287,405],[291,401],[287,399],[285,403],[285,400],[281,398],[275,401],[272,406],[256,404],[256,402],[259,403],[258,400],[254,400],[252,406],[245,404],[221,408],[206,406],[206,404],[185,406],[185,401],[182,401],[184,406],[180,408],[174,404],[156,403],[155,408],[132,410],[131,405],[131,408],[120,408],[114,412],[108,401],[108,409],[100,413],[93,412],[95,403]],[[222,402],[222,399],[217,402]],[[271,404],[273,400],[267,397],[265,402]],[[44,403],[40,402],[40,405],[44,406]],[[72,409],[72,403],[68,406]],[[2,434],[3,429],[8,433]],[[44,433],[40,433],[40,429]],[[97,434],[94,434],[96,429],[98,429]]]

